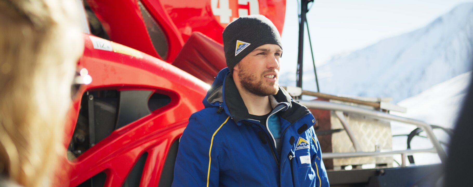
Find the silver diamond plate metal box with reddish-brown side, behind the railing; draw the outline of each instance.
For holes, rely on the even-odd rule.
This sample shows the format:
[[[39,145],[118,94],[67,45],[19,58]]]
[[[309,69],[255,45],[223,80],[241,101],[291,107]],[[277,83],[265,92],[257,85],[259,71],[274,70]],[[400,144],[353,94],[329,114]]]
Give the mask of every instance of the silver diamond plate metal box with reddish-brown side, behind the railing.
[[[350,102],[340,102],[335,100],[330,100],[330,102],[374,110],[372,107],[357,105]],[[312,112],[314,113],[315,119],[319,120],[319,123],[316,124],[319,125],[319,127],[315,127],[316,129],[344,129],[340,119],[337,118],[334,111],[324,112],[321,110],[315,110]],[[327,118],[326,115],[330,115],[330,117]],[[358,114],[344,113],[343,115],[350,126],[354,138],[359,142],[361,151],[375,152],[379,150],[392,150],[393,141],[390,122],[372,119]],[[327,121],[328,119],[330,122]],[[321,142],[323,152],[355,152],[355,148],[345,130],[333,133],[331,136],[318,136],[318,138]],[[324,162],[327,162],[327,169],[333,170],[340,170],[343,166],[347,165],[357,166],[363,164],[386,164],[387,167],[392,167],[393,161],[392,156],[324,159]]]

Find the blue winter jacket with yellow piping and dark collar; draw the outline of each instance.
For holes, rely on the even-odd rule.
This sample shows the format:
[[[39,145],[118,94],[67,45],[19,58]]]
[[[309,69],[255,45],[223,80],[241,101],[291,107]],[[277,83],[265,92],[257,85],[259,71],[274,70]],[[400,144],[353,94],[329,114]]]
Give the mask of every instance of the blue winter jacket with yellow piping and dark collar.
[[[228,68],[222,69],[179,142],[173,187],[328,187],[314,116],[286,90],[270,96],[281,149],[250,119]],[[269,117],[268,117],[269,118]]]

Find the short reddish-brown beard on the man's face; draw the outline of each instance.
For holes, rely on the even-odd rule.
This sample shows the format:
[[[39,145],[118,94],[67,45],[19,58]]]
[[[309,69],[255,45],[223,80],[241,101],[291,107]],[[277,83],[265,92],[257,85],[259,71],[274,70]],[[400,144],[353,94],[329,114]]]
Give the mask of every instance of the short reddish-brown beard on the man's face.
[[[279,76],[276,76],[276,81],[271,82],[270,85],[272,87],[263,86],[266,84],[265,80],[261,79],[264,74],[272,73],[274,71],[264,72],[258,81],[258,78],[254,75],[251,75],[247,71],[243,70],[243,68],[238,72],[238,78],[240,79],[240,84],[249,93],[253,93],[254,95],[258,96],[268,96],[268,95],[275,95],[279,91]]]

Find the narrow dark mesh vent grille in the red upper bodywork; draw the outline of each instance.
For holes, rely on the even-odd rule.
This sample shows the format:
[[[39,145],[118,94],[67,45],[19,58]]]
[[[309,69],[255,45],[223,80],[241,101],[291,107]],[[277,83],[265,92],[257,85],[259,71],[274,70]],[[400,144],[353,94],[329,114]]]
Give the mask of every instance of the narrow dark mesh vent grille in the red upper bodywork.
[[[148,30],[149,38],[153,43],[154,49],[158,52],[159,56],[164,60],[167,59],[168,43],[166,35],[163,32],[163,29],[158,25],[156,20],[149,14],[148,10],[143,6],[141,1],[138,1],[138,6],[140,6],[141,16],[146,25],[146,30]]]

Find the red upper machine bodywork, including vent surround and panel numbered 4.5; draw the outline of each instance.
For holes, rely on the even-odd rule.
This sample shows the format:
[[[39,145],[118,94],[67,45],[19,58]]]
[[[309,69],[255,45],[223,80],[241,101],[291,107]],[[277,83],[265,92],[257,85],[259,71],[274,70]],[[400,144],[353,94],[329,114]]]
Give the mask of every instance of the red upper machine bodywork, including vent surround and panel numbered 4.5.
[[[165,61],[168,63],[173,62],[193,32],[201,32],[222,44],[223,29],[234,18],[262,14],[271,19],[281,33],[286,12],[286,0],[86,1],[112,41],[163,59],[155,51],[149,38],[138,5],[141,2],[166,34],[168,55]],[[238,1],[241,1],[240,4]]]

